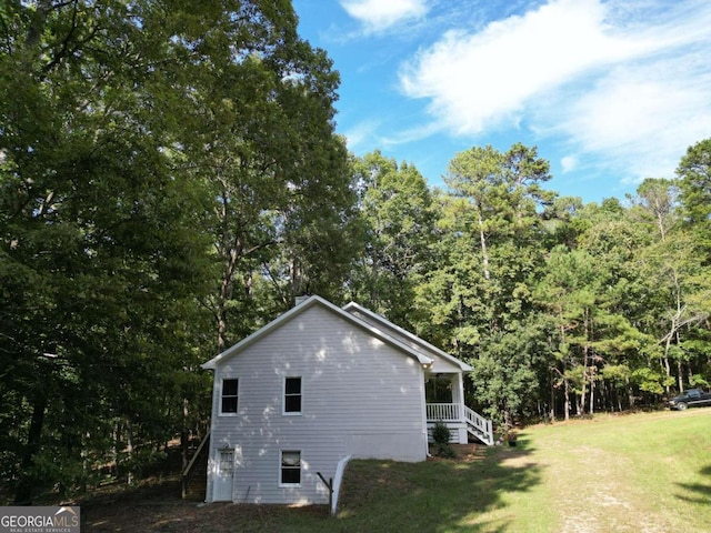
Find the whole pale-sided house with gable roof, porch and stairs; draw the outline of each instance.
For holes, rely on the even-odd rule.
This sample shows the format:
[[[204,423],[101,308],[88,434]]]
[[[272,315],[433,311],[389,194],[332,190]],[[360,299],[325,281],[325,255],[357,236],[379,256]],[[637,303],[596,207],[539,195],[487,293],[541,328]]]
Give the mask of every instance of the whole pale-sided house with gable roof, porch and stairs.
[[[208,502],[327,503],[339,461],[423,461],[437,420],[493,442],[463,402],[471,368],[356,303],[311,296],[202,366]]]

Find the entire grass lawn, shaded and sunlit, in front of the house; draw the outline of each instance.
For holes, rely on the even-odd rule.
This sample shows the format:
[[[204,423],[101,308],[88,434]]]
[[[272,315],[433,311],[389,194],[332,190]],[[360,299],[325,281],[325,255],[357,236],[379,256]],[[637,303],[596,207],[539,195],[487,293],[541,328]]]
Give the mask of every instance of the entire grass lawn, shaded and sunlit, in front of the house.
[[[711,409],[527,428],[515,447],[470,445],[457,461],[352,461],[336,517],[324,506],[124,507],[89,506],[86,520],[82,507],[82,531],[711,531]],[[123,529],[114,519],[127,513]]]

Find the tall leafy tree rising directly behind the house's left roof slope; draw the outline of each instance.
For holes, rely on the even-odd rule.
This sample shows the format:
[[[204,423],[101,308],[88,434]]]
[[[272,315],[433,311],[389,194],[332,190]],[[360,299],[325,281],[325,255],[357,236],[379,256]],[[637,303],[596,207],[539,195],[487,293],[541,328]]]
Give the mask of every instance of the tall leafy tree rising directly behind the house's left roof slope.
[[[180,36],[170,41],[180,66],[166,76],[190,102],[178,108],[173,148],[214,199],[207,217],[221,274],[204,304],[222,351],[294,294],[343,283],[350,240],[333,235],[350,231],[356,200],[333,132],[338,73],[298,37],[290,3],[212,8],[163,23]]]

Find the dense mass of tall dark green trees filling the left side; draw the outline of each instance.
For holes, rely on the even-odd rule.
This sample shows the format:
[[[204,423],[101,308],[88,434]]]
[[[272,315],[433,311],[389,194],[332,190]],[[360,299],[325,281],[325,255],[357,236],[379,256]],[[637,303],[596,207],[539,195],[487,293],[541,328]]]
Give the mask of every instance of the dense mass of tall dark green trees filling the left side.
[[[227,342],[236,280],[247,292],[286,235],[332,234],[313,229],[317,194],[338,191],[324,219],[346,223],[326,53],[298,38],[289,2],[200,8],[0,11],[0,416],[18,502],[94,463],[139,467],[202,398],[184,373]],[[210,342],[196,302],[220,279],[216,261],[224,325]]]

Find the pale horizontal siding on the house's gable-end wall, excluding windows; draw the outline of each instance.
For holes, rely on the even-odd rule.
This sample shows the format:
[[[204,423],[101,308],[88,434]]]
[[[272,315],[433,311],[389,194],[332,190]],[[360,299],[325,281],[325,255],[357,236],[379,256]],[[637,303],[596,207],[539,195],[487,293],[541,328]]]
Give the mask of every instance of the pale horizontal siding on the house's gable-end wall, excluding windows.
[[[239,414],[213,418],[211,434],[213,449],[237,450],[234,501],[328,503],[317,473],[333,477],[347,455],[425,459],[422,366],[320,305],[222,361],[216,383],[234,375],[240,376]],[[286,379],[296,376],[302,416],[284,416]],[[213,412],[218,409],[213,403]],[[280,486],[282,451],[300,451],[300,487]]]

